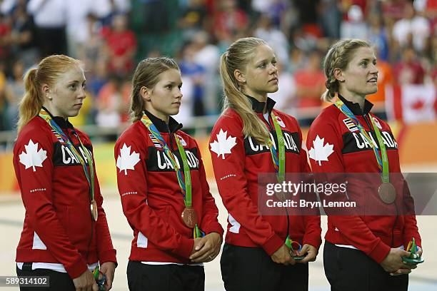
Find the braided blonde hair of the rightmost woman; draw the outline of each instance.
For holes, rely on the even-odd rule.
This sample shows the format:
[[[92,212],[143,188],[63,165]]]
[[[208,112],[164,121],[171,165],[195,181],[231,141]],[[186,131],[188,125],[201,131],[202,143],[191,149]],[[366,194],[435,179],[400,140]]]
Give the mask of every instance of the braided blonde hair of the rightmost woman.
[[[337,41],[329,48],[323,60],[323,73],[325,73],[327,78],[325,83],[327,90],[321,96],[323,101],[330,102],[340,88],[340,82],[333,74],[334,69],[340,68],[345,70],[353,58],[353,53],[357,48],[361,47],[371,48],[371,45],[361,39],[343,39]]]

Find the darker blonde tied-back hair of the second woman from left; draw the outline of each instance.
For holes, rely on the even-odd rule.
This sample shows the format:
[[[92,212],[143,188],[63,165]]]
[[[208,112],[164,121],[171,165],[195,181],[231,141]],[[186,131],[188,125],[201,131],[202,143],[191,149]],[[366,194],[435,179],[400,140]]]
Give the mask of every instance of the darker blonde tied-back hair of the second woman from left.
[[[179,66],[172,58],[160,56],[158,58],[146,58],[136,66],[134,77],[132,78],[131,91],[131,121],[139,121],[143,116],[144,99],[141,96],[141,87],[154,88],[159,81],[159,75],[165,71]]]

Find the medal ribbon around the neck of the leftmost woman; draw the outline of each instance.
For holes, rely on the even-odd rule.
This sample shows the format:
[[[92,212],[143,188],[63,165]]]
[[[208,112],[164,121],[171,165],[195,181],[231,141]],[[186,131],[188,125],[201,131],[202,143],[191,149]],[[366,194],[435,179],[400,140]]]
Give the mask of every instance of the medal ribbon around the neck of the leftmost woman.
[[[62,129],[56,124],[56,122],[53,120],[53,118],[51,118],[50,114],[44,108],[41,108],[41,110],[39,111],[39,117],[43,118],[44,121],[49,123],[49,126],[51,127],[54,136],[56,136],[59,141],[64,142],[64,144],[69,148],[69,150],[71,150],[77,160],[79,160],[79,163],[81,163],[82,168],[84,168],[86,180],[88,181],[91,201],[94,201],[94,164],[91,158],[91,154],[85,148],[84,144],[76,133],[75,136],[79,140],[82,151],[84,152],[84,154],[86,155],[86,159],[88,160],[89,168],[87,168],[85,160],[84,158],[82,158],[82,155],[76,150],[73,143],[71,143],[70,139],[66,136],[64,131],[62,131]]]

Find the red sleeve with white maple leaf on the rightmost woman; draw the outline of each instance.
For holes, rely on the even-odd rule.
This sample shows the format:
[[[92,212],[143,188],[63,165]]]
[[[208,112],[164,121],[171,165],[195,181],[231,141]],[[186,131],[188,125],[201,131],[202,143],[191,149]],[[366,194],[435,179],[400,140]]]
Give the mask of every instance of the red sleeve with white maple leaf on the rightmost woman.
[[[323,114],[323,113],[322,113]],[[326,118],[316,118],[311,125],[306,140],[306,148],[310,150],[311,168],[314,173],[344,173],[343,156],[341,149],[343,148],[343,141],[341,140],[341,133],[338,132],[335,120],[328,120]],[[328,160],[314,160],[311,158],[311,148],[313,141],[316,139],[323,139],[323,145],[330,144],[333,146],[333,153],[328,156]],[[329,213],[328,213],[329,215]],[[329,215],[330,222],[338,228],[351,245],[362,250],[369,257],[376,262],[381,262],[390,252],[391,247],[382,242],[381,238],[377,238],[366,223],[358,215]]]

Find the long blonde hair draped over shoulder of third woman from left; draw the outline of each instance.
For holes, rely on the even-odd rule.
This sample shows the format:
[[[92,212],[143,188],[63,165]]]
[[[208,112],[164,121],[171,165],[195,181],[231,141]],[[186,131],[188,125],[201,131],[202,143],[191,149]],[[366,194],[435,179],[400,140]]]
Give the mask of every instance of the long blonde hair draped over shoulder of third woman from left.
[[[220,75],[223,81],[224,102],[223,112],[232,108],[238,113],[243,121],[244,137],[251,136],[258,143],[268,141],[266,125],[252,109],[251,101],[241,91],[241,87],[235,78],[235,70],[244,71],[255,49],[261,45],[268,45],[266,41],[255,37],[238,39],[220,57]]]

